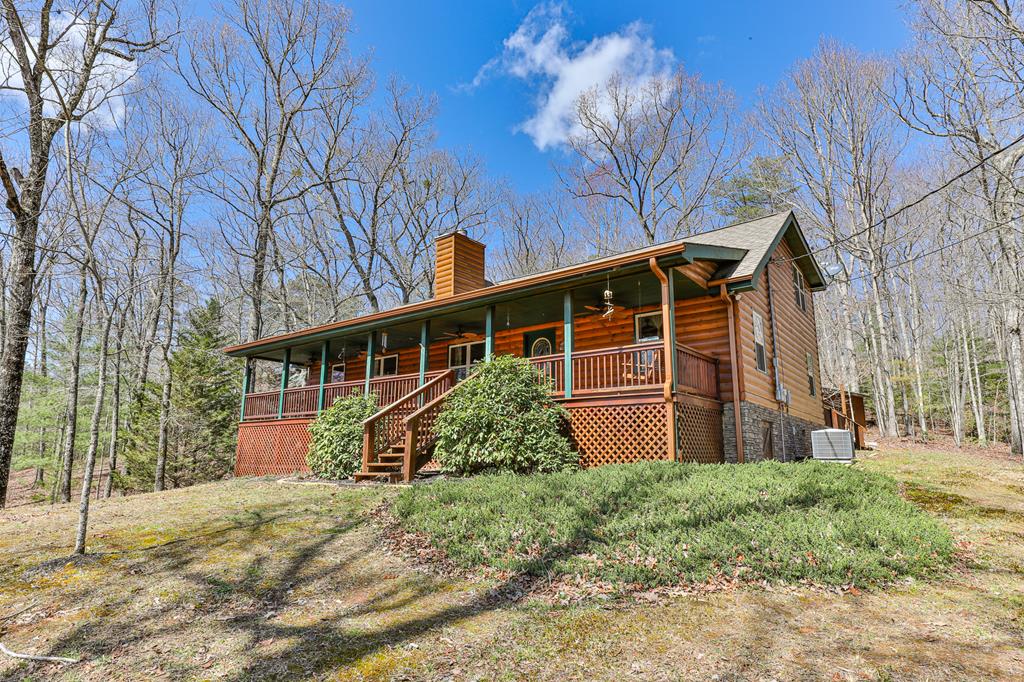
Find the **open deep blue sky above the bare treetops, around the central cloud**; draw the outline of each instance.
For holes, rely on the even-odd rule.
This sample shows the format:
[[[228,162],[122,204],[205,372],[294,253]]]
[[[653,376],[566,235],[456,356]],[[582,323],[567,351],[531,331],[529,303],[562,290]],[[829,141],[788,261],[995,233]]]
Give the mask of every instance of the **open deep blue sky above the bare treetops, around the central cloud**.
[[[439,142],[471,150],[490,174],[507,177],[522,191],[550,187],[551,164],[559,159],[557,139],[552,141],[557,133],[539,132],[540,124],[530,129],[527,123],[523,130],[545,110],[561,76],[536,60],[551,56],[545,35],[557,39],[554,58],[566,73],[588,50],[603,46],[611,53],[615,45],[633,50],[624,57],[629,68],[649,71],[682,62],[706,80],[724,83],[744,106],[759,87],[771,86],[796,59],[808,56],[821,36],[886,53],[908,38],[899,4],[885,0],[345,4],[352,10],[353,51],[372,53],[379,82],[394,74],[434,92]],[[521,27],[526,49],[507,48],[506,39]],[[557,31],[546,34],[552,27]],[[574,63],[579,70],[582,62]]]

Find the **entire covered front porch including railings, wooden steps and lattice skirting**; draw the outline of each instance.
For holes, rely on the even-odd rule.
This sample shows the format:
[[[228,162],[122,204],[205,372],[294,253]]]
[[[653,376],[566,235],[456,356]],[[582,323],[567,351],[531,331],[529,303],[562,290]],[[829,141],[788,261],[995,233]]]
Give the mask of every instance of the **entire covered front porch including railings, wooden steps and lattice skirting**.
[[[559,286],[484,291],[278,337],[247,353],[239,461],[243,452],[288,451],[301,468],[304,425],[339,397],[372,392],[381,411],[366,424],[364,474],[397,475],[400,464],[409,479],[429,459],[430,425],[447,392],[477,363],[504,354],[528,358],[537,381],[568,409],[585,466],[685,453],[721,461],[731,380],[721,366],[731,341],[725,305],[708,287],[716,267],[650,259]],[[253,361],[276,364],[275,386],[253,390]]]

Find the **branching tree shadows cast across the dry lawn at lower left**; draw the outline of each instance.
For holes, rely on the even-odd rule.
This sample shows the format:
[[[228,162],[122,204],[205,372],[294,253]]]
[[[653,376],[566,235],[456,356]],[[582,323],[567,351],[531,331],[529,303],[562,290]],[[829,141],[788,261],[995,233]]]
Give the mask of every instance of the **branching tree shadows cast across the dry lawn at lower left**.
[[[419,572],[396,559],[376,553],[372,539],[357,532],[369,520],[367,512],[353,513],[350,518],[327,525],[312,522],[305,531],[307,540],[300,544],[292,540],[300,537],[298,534],[274,537],[272,542],[267,542],[261,537],[261,530],[275,523],[301,520],[301,513],[263,510],[263,514],[251,523],[194,534],[137,550],[113,552],[120,556],[108,565],[111,571],[135,573],[139,576],[136,581],[151,585],[155,581],[184,580],[190,605],[171,598],[160,604],[142,602],[140,607],[140,602],[135,601],[138,597],[126,590],[117,597],[112,617],[90,616],[51,641],[48,653],[77,651],[89,660],[121,656],[138,658],[141,655],[152,658],[148,651],[152,646],[174,637],[186,637],[182,648],[193,645],[202,648],[204,643],[194,641],[187,634],[193,628],[209,632],[202,623],[208,619],[219,624],[220,632],[216,633],[219,639],[233,640],[236,646],[242,642],[240,648],[249,651],[241,669],[230,671],[227,679],[322,676],[510,605],[521,598],[528,582],[534,580],[520,573],[489,589],[453,591],[451,583],[443,579]],[[595,509],[589,520],[597,524],[601,516]],[[588,523],[581,523],[577,534],[550,548],[542,562],[551,565],[577,553],[586,545],[592,530]],[[218,550],[229,551],[232,544],[255,545],[258,549],[244,564],[232,566],[228,574],[212,576],[208,556]],[[360,566],[368,565],[367,555],[372,560],[379,558],[381,563],[360,573]],[[386,573],[387,570],[391,573]],[[121,578],[115,574],[113,580]],[[301,619],[303,610],[295,603],[293,593],[312,591],[315,594],[325,589],[356,591],[339,594],[339,597],[358,597],[361,593],[369,593],[370,597],[346,599],[337,609],[321,608],[317,622],[294,623]],[[442,597],[438,596],[439,592],[443,593]],[[80,603],[102,598],[100,591],[91,586],[83,586],[76,593]],[[147,598],[152,597],[147,595]],[[285,613],[279,614],[282,611]],[[268,640],[276,645],[260,646]],[[284,648],[282,643],[285,643]],[[175,653],[177,657],[158,657],[154,664],[174,677],[209,675],[201,667],[203,662],[195,655],[184,650]],[[97,669],[102,670],[103,665],[104,662],[99,662]],[[75,675],[74,668],[29,665],[12,671],[4,679],[60,672]]]

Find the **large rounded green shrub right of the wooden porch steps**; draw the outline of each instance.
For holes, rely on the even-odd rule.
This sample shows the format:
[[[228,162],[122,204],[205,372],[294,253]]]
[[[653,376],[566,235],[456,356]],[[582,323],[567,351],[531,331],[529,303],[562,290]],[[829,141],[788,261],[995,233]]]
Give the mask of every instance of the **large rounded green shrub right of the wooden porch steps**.
[[[579,457],[565,436],[565,417],[528,360],[496,357],[452,392],[434,424],[434,458],[460,475],[573,468]]]

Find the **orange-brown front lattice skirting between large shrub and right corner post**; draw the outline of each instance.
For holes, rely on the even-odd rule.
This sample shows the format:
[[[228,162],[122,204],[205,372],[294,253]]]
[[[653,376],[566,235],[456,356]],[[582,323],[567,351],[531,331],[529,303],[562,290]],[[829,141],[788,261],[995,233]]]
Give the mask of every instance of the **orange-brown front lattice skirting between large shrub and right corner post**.
[[[580,464],[629,464],[669,459],[666,402],[626,398],[566,402]]]

